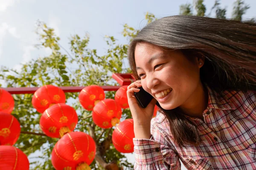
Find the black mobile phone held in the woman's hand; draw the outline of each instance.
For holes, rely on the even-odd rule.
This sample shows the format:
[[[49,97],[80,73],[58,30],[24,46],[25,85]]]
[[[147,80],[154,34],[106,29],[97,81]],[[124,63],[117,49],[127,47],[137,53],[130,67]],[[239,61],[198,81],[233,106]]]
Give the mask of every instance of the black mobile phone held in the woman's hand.
[[[153,96],[146,92],[142,86],[140,86],[138,89],[140,89],[139,92],[134,92],[134,96],[137,99],[137,102],[140,104],[140,107],[146,108],[148,104],[153,99]]]

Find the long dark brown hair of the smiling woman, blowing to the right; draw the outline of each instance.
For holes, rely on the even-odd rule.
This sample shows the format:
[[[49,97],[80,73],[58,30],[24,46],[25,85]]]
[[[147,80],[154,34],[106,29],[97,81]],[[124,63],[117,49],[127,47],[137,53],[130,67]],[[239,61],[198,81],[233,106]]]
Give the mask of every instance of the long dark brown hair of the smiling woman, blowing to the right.
[[[176,15],[145,26],[130,43],[128,61],[139,79],[134,60],[137,43],[147,42],[168,49],[180,49],[188,58],[204,55],[200,79],[211,89],[256,90],[256,24],[236,20]],[[179,108],[162,109],[175,142],[181,147],[200,144],[196,126]]]

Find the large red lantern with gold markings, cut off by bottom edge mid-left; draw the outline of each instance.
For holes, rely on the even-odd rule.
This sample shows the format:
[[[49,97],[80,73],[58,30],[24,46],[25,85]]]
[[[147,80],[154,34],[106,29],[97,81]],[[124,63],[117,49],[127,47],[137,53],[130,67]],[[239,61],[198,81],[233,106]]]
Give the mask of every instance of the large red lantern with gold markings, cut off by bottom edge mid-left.
[[[96,144],[90,135],[70,132],[55,144],[52,165],[56,170],[90,170],[95,153]]]

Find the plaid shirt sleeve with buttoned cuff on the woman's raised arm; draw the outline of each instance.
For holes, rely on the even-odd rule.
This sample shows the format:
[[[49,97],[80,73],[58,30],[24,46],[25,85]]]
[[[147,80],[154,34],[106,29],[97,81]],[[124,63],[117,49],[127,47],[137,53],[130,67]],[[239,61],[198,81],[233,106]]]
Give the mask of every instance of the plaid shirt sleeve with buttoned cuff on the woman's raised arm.
[[[180,160],[165,133],[151,125],[150,139],[134,138],[134,170],[180,170]]]

